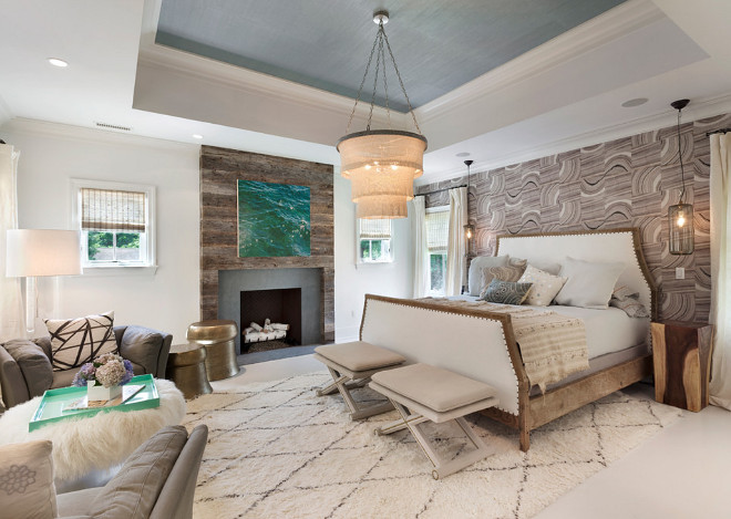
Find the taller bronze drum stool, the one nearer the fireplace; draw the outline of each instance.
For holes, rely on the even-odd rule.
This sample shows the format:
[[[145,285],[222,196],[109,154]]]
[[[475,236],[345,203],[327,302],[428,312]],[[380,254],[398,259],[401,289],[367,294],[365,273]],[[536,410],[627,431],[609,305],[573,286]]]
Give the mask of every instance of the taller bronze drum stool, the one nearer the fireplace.
[[[185,338],[205,346],[206,372],[209,381],[228,378],[239,372],[236,362],[238,326],[235,321],[200,321],[188,326]]]

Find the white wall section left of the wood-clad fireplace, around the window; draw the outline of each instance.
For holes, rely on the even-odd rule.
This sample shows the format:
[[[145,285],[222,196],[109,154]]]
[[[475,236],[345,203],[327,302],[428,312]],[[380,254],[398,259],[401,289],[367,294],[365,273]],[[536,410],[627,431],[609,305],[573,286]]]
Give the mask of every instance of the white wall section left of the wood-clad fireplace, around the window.
[[[71,228],[70,178],[156,187],[157,272],[114,269],[105,274],[39,280],[41,318],[114,310],[115,323],[142,324],[185,342],[199,319],[199,147],[39,122],[13,122],[0,137],[20,150],[21,228]],[[45,334],[42,321],[35,335]]]

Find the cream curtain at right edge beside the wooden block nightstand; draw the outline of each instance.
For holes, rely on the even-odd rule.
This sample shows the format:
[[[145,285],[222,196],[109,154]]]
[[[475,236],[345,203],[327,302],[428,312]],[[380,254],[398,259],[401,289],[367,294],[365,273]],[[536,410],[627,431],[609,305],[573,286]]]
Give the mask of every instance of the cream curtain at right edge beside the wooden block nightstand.
[[[731,134],[711,135],[711,404],[731,409]]]

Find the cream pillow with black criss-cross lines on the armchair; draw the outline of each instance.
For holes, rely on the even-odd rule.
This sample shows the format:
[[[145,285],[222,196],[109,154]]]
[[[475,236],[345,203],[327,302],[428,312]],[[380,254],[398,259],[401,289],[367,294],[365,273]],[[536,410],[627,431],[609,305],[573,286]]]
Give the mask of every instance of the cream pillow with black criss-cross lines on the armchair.
[[[91,362],[104,353],[116,353],[114,312],[71,320],[45,320],[51,334],[53,371],[65,371]]]

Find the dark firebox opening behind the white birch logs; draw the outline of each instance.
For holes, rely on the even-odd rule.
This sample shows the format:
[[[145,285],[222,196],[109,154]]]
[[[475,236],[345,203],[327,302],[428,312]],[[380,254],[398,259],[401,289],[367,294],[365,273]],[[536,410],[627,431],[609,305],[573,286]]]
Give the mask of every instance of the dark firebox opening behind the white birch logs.
[[[302,343],[302,289],[243,290],[240,301],[241,329],[251,322],[264,326],[268,319],[289,325],[282,342],[292,346]],[[247,346],[251,344],[241,343],[241,351]]]

